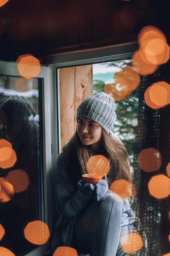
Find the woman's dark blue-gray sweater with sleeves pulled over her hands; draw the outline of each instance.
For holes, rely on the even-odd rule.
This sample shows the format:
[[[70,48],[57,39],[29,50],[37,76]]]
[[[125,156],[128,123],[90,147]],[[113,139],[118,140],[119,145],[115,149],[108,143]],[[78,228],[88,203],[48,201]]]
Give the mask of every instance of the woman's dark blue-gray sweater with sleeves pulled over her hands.
[[[55,198],[56,204],[59,203],[59,209],[52,235],[53,252],[59,246],[73,247],[71,241],[74,223],[79,213],[92,202],[101,200],[106,193],[111,193],[106,180],[99,181],[95,186],[89,183],[82,184],[80,180],[75,189],[69,170],[67,156],[63,150],[63,153],[57,156],[55,166]],[[132,224],[137,219],[130,208],[132,202],[133,198],[124,200],[121,226]]]

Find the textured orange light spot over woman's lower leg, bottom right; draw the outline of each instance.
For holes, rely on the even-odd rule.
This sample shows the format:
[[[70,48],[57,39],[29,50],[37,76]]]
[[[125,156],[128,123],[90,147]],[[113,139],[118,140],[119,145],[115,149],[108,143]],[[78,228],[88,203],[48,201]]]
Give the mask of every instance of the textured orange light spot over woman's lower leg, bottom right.
[[[121,239],[121,246],[124,252],[133,253],[139,251],[143,246],[143,241],[141,236],[137,232],[133,232],[124,236]]]

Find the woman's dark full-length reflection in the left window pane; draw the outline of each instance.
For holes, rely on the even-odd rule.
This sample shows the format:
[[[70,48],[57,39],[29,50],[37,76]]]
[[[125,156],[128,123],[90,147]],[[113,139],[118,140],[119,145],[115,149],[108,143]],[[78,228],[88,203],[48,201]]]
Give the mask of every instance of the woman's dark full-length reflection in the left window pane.
[[[1,139],[6,139],[15,150],[17,161],[7,169],[0,168],[0,176],[6,177],[9,171],[21,169],[28,173],[29,187],[26,191],[15,193],[13,198],[0,204],[0,224],[5,229],[1,240],[17,255],[28,248],[23,237],[23,225],[38,216],[38,155],[39,125],[29,121],[30,115],[35,116],[31,102],[25,97],[13,95],[0,102]],[[30,245],[29,245],[30,246]]]

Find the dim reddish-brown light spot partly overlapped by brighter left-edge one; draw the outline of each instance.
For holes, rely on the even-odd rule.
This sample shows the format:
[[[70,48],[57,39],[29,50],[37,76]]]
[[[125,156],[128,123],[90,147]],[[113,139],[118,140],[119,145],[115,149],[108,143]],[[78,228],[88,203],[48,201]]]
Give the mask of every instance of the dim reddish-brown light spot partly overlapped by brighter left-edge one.
[[[14,193],[25,191],[29,186],[29,176],[22,170],[13,170],[7,174],[7,180],[13,185]]]

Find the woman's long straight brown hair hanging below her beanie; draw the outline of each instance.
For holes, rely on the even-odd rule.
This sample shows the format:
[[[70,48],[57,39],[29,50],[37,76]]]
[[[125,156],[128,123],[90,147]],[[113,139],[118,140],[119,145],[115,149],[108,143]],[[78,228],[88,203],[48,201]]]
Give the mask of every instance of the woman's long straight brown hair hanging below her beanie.
[[[108,185],[110,186],[114,180],[120,179],[132,182],[130,161],[126,147],[119,139],[109,135],[103,128],[102,133],[102,154],[108,158],[110,163],[110,171],[107,175]],[[68,156],[69,168],[72,169],[74,177],[77,177],[77,180],[79,180],[82,174],[87,173],[87,161],[94,155],[91,147],[84,146],[81,143],[76,131],[63,150]]]

